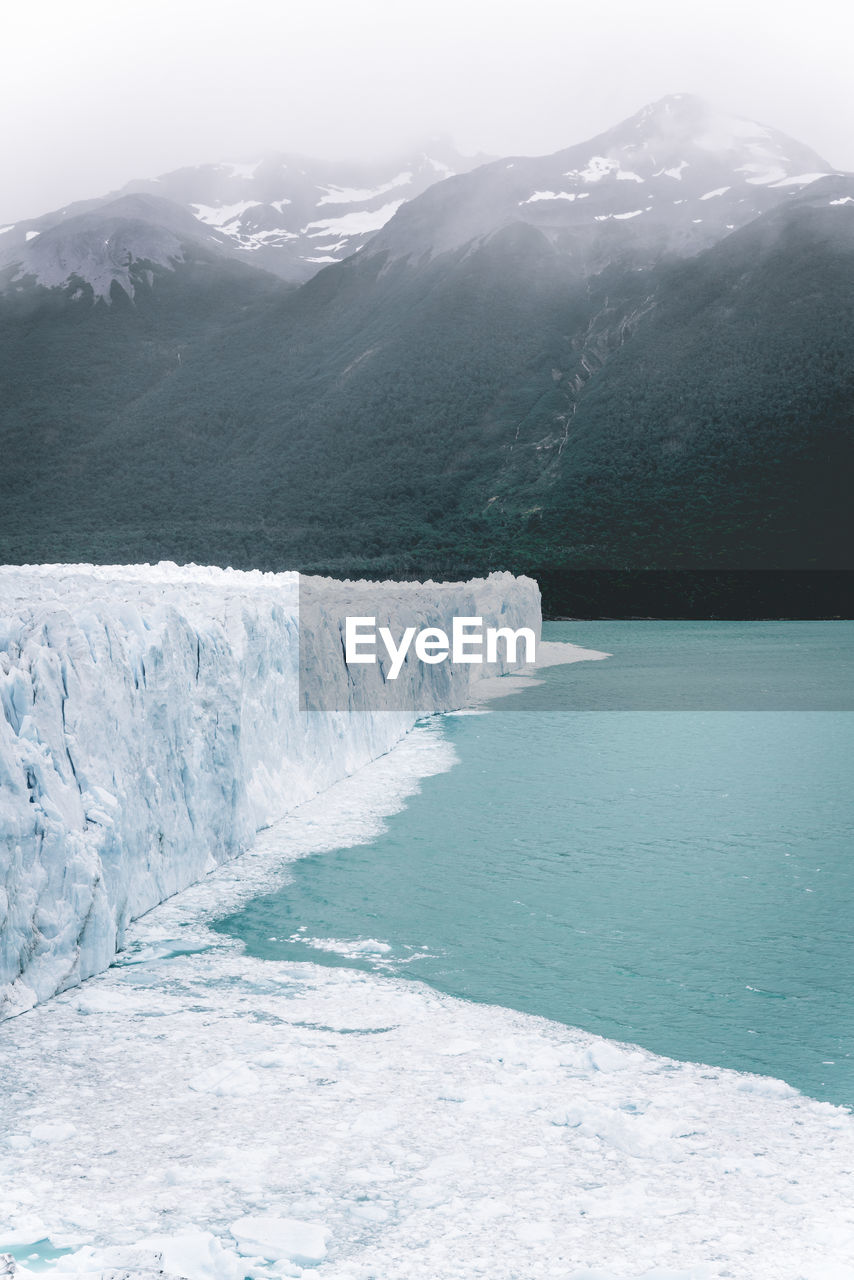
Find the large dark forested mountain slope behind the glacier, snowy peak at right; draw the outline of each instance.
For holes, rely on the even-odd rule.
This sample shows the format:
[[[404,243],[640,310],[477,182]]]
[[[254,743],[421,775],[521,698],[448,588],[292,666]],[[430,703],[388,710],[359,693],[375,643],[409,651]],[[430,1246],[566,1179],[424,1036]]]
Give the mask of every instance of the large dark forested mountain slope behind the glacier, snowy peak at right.
[[[111,307],[23,289],[0,556],[839,612],[851,298],[854,178],[684,95],[435,184],[296,289],[213,241]]]

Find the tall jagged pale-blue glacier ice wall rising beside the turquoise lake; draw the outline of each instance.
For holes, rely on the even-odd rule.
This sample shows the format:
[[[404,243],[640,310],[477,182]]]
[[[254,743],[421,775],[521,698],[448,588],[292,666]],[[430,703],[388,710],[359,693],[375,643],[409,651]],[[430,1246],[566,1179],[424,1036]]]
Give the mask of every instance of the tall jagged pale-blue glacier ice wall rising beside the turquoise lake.
[[[361,611],[364,585],[306,581]],[[379,625],[479,614],[539,636],[531,579],[371,593]],[[318,641],[303,686],[335,709],[307,712],[300,640],[296,573],[0,567],[0,1018],[106,968],[129,920],[507,669],[408,663],[383,704],[379,668],[355,678]]]

